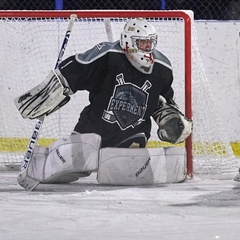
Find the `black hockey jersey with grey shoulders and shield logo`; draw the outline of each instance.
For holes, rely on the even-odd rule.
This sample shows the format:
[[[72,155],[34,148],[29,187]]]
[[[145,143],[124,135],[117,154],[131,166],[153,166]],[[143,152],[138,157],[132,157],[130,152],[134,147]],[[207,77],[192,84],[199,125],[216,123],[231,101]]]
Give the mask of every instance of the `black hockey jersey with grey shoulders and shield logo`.
[[[173,97],[170,61],[156,49],[153,58],[152,73],[144,74],[132,66],[117,41],[65,59],[59,70],[71,90],[89,92],[90,104],[74,130],[99,134],[102,147],[114,147],[140,132],[149,138],[159,95]]]

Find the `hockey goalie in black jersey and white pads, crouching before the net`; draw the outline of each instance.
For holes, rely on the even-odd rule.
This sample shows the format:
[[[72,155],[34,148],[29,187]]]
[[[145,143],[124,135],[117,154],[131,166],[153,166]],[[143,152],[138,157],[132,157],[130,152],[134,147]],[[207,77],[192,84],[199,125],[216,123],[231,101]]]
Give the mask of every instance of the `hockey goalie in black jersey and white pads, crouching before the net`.
[[[185,179],[183,147],[163,148],[158,156],[146,148],[151,119],[161,141],[181,143],[192,131],[192,121],[173,101],[171,62],[156,45],[154,27],[130,19],[119,41],[66,58],[45,81],[15,99],[21,115],[35,119],[56,111],[77,91],[89,92],[90,104],[73,132],[48,148],[35,147],[29,178],[69,183],[97,172],[97,181],[110,185]]]

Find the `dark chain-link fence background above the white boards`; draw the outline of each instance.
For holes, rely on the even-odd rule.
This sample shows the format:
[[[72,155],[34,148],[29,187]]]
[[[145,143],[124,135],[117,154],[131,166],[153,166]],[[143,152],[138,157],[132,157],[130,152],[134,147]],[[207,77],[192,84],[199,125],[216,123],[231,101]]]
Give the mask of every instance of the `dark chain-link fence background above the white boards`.
[[[55,10],[55,0],[0,0],[0,10]],[[161,10],[160,0],[63,0],[63,10]],[[165,10],[193,10],[195,19],[240,20],[240,0],[165,0]]]

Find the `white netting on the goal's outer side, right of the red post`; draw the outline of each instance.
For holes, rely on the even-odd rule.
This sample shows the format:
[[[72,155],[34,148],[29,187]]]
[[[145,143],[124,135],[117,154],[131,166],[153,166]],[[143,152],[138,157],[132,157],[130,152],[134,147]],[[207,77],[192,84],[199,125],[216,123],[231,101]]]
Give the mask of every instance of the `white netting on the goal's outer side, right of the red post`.
[[[192,27],[192,94],[194,173],[227,174],[237,172],[239,163],[218,114]]]

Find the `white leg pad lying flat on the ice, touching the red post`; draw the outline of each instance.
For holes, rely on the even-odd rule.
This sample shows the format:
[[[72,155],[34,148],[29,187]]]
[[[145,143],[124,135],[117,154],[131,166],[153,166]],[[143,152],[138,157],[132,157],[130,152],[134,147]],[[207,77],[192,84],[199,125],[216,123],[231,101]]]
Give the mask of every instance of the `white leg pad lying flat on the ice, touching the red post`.
[[[100,150],[97,175],[99,183],[146,185],[177,183],[185,179],[186,156],[182,147]]]

